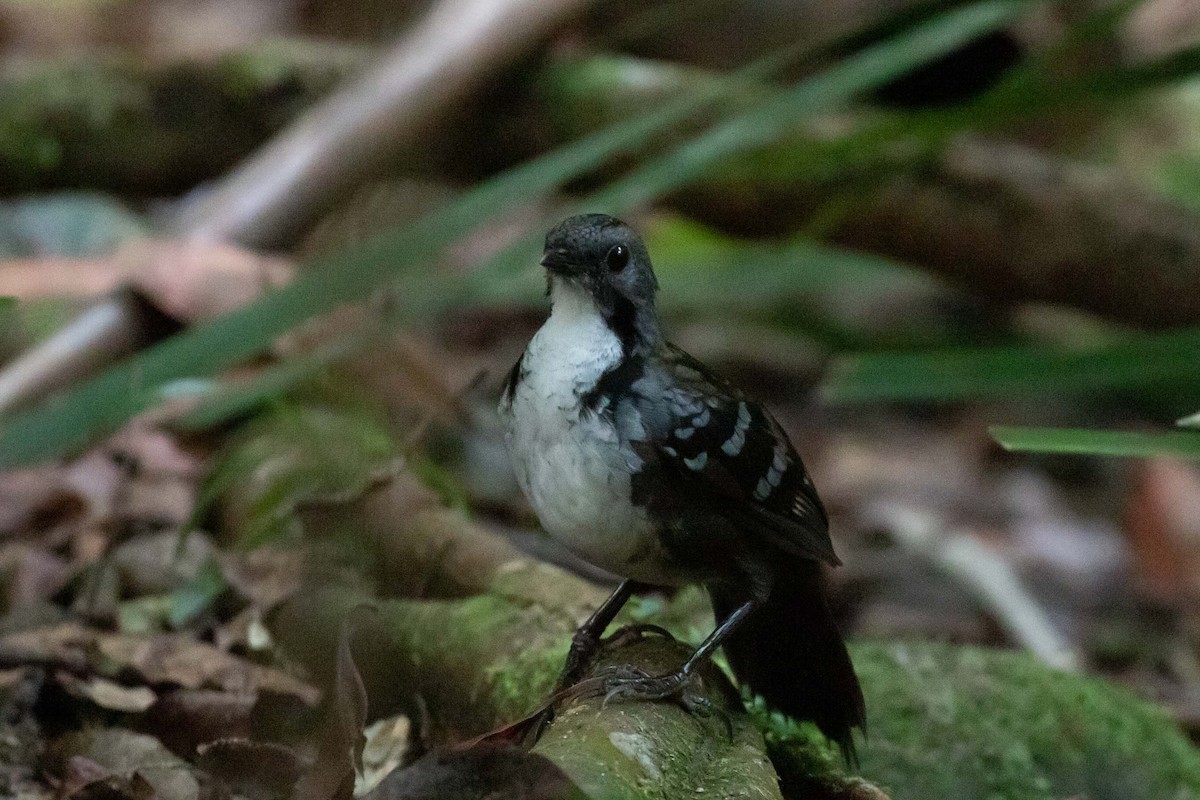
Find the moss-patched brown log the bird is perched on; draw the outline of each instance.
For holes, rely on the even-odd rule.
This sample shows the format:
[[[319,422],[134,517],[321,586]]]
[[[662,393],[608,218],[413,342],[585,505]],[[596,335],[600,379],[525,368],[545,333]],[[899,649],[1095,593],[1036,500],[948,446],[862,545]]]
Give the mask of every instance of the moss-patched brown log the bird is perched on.
[[[571,633],[606,591],[524,557],[504,539],[444,507],[402,473],[349,506],[316,506],[305,529],[349,533],[376,555],[391,599],[359,588],[316,585],[272,616],[284,650],[329,679],[343,620],[370,716],[403,711],[436,745],[520,721],[550,696]],[[400,599],[396,599],[400,595]],[[421,597],[421,599],[416,599]],[[606,664],[636,663],[654,674],[678,668],[690,648],[660,637],[606,650]],[[780,798],[762,733],[716,668],[698,690],[720,715],[700,718],[667,703],[565,702],[533,747],[589,798]]]

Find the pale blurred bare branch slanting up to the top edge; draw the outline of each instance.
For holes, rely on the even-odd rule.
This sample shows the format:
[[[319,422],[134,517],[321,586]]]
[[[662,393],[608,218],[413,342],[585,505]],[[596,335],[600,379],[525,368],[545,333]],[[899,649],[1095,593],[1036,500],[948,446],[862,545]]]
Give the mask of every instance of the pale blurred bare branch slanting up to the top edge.
[[[440,0],[378,64],[179,210],[190,236],[286,241],[578,13],[584,0]]]

